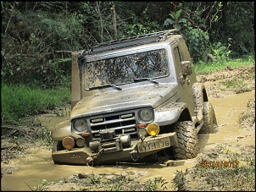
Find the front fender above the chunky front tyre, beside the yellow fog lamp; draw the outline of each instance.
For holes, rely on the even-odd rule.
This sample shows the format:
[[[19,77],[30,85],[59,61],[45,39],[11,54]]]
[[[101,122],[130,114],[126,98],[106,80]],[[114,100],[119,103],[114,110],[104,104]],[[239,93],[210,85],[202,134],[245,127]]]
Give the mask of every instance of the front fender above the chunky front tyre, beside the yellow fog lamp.
[[[165,107],[155,111],[154,123],[164,126],[177,122],[183,112],[187,108],[184,102],[172,102]]]

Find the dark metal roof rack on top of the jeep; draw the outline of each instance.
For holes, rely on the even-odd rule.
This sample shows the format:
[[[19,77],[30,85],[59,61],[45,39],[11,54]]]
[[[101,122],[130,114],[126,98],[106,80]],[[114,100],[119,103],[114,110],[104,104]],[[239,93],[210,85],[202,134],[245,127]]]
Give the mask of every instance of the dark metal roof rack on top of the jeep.
[[[92,53],[103,52],[107,50],[110,51],[110,50],[118,49],[120,47],[132,47],[132,46],[138,46],[138,45],[143,45],[143,44],[157,42],[157,41],[165,41],[167,36],[174,34],[175,31],[177,30],[176,29],[163,30],[163,31],[159,31],[151,34],[142,35],[142,36],[133,36],[128,38],[123,38],[120,40],[103,42],[101,44],[98,44],[95,47],[92,47],[88,53],[92,54]]]

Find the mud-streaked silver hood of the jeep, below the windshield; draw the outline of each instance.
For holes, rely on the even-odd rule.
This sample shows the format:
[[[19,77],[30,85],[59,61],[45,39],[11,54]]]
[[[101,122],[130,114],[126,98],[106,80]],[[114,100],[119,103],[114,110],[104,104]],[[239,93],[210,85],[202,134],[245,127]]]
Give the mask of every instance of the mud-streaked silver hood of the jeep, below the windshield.
[[[177,87],[170,85],[140,86],[121,91],[85,96],[73,107],[70,118],[91,117],[140,107],[159,107],[170,98],[176,100]]]

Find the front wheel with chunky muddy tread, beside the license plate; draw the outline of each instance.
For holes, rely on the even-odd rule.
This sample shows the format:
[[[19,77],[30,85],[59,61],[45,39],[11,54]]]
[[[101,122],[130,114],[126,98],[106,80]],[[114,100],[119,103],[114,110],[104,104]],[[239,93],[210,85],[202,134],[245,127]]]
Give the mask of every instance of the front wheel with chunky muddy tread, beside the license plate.
[[[191,159],[198,155],[198,133],[192,121],[175,123],[178,144],[173,145],[176,159]]]

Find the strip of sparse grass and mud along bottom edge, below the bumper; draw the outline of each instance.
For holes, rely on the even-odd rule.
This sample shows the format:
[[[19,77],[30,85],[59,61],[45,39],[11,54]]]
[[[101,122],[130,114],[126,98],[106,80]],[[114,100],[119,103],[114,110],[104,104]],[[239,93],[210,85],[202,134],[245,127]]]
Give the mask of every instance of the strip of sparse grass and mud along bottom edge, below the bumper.
[[[137,178],[124,174],[75,174],[69,179],[59,182],[47,182],[43,179],[42,184],[34,187],[35,191],[58,189],[61,183],[64,190],[70,191],[163,191],[166,189],[165,180],[161,177],[138,182]],[[63,189],[63,188],[62,188]]]

